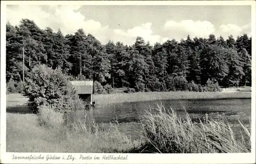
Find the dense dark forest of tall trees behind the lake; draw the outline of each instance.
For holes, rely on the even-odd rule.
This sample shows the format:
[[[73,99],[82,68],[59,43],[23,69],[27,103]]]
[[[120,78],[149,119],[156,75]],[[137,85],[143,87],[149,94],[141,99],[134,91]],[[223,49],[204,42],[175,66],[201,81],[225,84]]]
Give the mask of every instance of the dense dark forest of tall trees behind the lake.
[[[60,30],[42,30],[29,19],[6,24],[6,80],[19,86],[31,69],[45,64],[61,68],[69,79],[92,79],[112,88],[135,91],[188,90],[189,85],[251,85],[251,37],[167,40],[151,45],[137,37],[133,45],[103,45],[82,29],[63,36]]]

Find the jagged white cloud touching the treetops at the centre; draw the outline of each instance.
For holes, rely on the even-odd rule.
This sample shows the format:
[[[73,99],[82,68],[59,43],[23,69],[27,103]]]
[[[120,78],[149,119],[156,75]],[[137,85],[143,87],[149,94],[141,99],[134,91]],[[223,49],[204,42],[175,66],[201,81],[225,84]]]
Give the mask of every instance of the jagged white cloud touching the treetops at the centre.
[[[164,42],[168,38],[162,38],[159,35],[154,35],[153,30],[151,29],[152,23],[147,22],[143,23],[139,26],[135,26],[132,29],[128,29],[126,31],[115,29],[114,30],[114,41],[120,41],[122,40],[126,44],[133,44],[136,40],[136,37],[142,37],[145,42],[149,41],[151,44],[154,44],[156,42]]]

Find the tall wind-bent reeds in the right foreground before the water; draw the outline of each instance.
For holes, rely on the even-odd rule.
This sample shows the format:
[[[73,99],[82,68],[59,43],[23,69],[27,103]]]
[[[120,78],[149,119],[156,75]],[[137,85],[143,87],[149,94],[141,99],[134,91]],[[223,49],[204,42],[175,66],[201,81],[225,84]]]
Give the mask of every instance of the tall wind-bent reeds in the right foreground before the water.
[[[250,152],[250,132],[245,130],[249,143],[238,141],[224,119],[206,118],[194,123],[185,114],[184,118],[162,105],[146,111],[141,124],[146,142],[140,149],[154,153],[241,153]]]

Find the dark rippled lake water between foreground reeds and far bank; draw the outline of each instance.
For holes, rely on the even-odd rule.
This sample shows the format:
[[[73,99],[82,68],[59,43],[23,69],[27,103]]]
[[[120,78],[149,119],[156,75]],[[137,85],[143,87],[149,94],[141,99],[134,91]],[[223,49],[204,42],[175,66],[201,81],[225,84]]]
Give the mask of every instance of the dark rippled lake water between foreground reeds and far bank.
[[[166,108],[171,106],[181,117],[186,110],[193,121],[203,119],[205,114],[214,119],[221,115],[236,127],[239,124],[238,119],[248,125],[251,118],[251,99],[247,98],[124,102],[95,107],[93,111],[85,112],[90,120],[94,119],[99,126],[109,126],[110,122],[115,123],[118,121],[119,131],[131,136],[132,139],[139,139],[142,131],[141,125],[138,123],[139,116],[143,115],[144,110],[149,110],[150,107],[157,107],[156,104],[162,104]],[[77,115],[84,121],[85,114],[83,111],[78,111]],[[240,128],[234,128],[234,131],[236,130],[240,132]]]

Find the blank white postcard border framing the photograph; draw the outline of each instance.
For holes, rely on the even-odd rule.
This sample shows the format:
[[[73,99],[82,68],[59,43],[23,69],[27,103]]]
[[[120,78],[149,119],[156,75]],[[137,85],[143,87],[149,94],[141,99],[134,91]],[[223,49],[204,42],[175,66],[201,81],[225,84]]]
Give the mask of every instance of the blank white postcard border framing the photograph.
[[[71,154],[79,158],[80,153],[7,153],[6,152],[6,5],[221,5],[251,6],[252,35],[252,99],[251,99],[251,153],[227,154],[121,154],[128,160],[12,160],[12,155],[58,155]],[[1,1],[1,148],[0,163],[255,163],[255,1]],[[109,153],[84,153],[103,156]],[[111,154],[119,155],[119,154]]]

